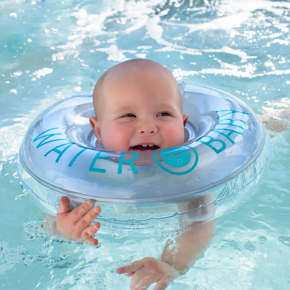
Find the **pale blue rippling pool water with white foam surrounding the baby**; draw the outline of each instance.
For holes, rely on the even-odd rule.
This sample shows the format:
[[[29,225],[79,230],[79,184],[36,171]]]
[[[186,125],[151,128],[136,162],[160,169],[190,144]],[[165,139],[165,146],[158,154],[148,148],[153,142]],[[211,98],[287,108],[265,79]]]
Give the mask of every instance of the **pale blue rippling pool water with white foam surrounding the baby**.
[[[135,57],[236,95],[256,113],[287,108],[289,30],[288,1],[1,1],[0,288],[129,289],[115,268],[158,257],[164,242],[100,237],[95,249],[32,235],[43,213],[22,192],[16,158],[37,114],[92,92],[105,70]],[[290,131],[268,132],[263,183],[219,219],[205,257],[168,289],[289,289]]]

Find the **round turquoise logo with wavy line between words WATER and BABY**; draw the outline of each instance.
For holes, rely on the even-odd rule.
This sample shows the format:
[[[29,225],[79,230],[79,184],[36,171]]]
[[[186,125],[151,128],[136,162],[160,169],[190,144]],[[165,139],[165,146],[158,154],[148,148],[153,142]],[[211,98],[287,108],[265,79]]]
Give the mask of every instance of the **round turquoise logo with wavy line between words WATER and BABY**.
[[[156,150],[153,158],[161,169],[176,175],[189,173],[198,163],[198,153],[187,145]]]

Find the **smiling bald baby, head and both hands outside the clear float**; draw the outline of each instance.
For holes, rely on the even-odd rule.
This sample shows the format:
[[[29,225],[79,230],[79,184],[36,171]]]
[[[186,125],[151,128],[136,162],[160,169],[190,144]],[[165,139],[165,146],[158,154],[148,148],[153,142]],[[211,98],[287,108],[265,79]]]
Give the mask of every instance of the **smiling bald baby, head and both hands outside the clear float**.
[[[106,71],[94,88],[93,104],[96,117],[89,121],[106,150],[156,150],[184,142],[188,115],[182,112],[179,86],[171,72],[154,61],[128,60]],[[98,245],[94,234],[100,223],[91,223],[101,209],[92,206],[93,202],[87,200],[71,210],[68,198],[62,197],[56,231]],[[214,235],[214,224],[215,221],[201,223],[180,234],[176,249],[167,244],[160,260],[146,257],[116,272],[132,276],[131,289],[147,289],[154,282],[154,289],[165,289],[203,256]]]

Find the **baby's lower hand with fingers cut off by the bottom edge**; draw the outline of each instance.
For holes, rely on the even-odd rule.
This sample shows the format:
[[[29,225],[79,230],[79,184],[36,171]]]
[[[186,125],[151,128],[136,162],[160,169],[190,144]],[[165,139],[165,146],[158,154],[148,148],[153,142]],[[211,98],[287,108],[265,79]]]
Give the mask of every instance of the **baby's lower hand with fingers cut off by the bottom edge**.
[[[116,273],[132,277],[130,290],[144,290],[155,282],[157,284],[153,290],[164,290],[180,275],[172,266],[153,257],[146,257],[130,265],[119,267]]]

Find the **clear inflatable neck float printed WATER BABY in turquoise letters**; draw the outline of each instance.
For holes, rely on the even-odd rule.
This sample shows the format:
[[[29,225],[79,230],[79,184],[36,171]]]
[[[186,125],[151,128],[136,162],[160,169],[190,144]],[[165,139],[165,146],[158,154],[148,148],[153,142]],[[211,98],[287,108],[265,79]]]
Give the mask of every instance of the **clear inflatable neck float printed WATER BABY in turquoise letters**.
[[[43,111],[28,128],[18,160],[37,204],[55,215],[63,195],[73,207],[92,199],[102,208],[100,232],[157,237],[237,207],[253,192],[270,155],[265,129],[234,96],[179,87],[189,118],[184,143],[172,148],[104,149],[89,124],[92,96],[73,96]]]

